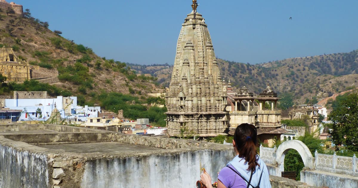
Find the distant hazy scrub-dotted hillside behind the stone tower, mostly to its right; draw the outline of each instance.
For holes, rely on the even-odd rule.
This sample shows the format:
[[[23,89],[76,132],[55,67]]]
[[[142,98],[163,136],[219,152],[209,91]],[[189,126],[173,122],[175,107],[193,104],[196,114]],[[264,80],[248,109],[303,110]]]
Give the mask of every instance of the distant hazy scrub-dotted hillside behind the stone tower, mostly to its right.
[[[295,96],[296,104],[316,102],[355,88],[358,79],[358,50],[255,65],[223,59],[217,61],[222,77],[226,82],[231,80],[234,90],[246,86],[258,95],[270,83],[279,95],[288,93]],[[151,73],[158,78],[158,83],[168,87],[172,68],[146,66],[141,68],[141,72]],[[152,73],[149,70],[158,71]]]

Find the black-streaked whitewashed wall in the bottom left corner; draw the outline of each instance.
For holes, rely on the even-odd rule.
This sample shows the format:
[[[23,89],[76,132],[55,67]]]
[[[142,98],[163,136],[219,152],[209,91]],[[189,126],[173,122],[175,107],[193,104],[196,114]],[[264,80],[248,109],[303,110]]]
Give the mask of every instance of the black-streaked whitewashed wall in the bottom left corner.
[[[0,187],[49,188],[46,150],[0,136]]]

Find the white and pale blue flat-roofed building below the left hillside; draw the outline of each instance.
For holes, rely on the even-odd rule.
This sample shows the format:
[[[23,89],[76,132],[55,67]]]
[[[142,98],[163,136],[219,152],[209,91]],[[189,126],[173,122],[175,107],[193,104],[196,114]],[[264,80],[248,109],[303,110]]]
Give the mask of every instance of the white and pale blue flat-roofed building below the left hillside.
[[[48,98],[46,91],[14,91],[14,95],[10,96],[9,99],[1,100],[4,105],[2,110],[20,110],[21,113],[14,112],[10,114],[13,121],[46,121],[56,109],[56,113],[62,120],[76,123],[86,121],[87,117],[98,117],[101,112],[101,107],[99,106],[77,106],[77,97],[74,96]],[[5,116],[5,113],[3,113],[3,116]]]

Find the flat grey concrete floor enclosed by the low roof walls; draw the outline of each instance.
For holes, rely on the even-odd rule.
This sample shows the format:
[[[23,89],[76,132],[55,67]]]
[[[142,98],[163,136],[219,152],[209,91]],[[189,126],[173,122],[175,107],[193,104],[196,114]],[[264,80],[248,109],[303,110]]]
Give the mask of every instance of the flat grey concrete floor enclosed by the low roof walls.
[[[100,142],[100,143],[77,143],[77,144],[53,144],[41,145],[39,147],[48,149],[62,149],[66,152],[73,153],[115,153],[121,154],[126,152],[149,152],[161,151],[165,149],[153,148],[141,145],[124,144],[118,142]]]

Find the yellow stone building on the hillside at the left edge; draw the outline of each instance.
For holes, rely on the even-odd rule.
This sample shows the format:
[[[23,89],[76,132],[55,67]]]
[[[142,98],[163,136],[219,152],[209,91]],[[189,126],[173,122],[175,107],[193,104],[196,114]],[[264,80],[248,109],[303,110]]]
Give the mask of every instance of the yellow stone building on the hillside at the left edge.
[[[21,82],[31,78],[31,69],[39,69],[26,61],[19,59],[12,48],[0,49],[0,73],[6,76],[6,81]]]

